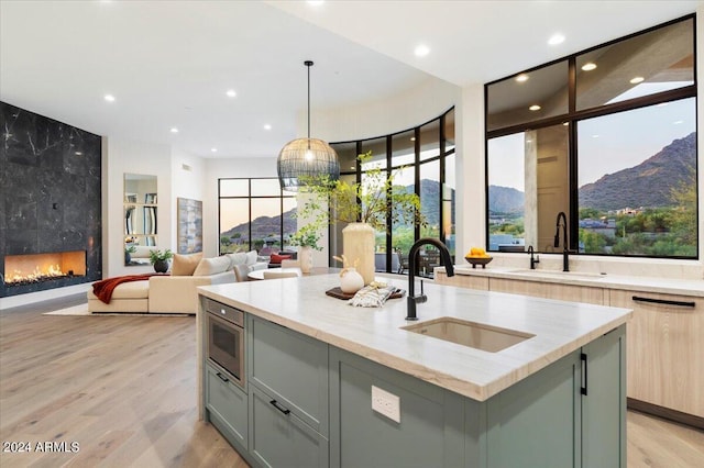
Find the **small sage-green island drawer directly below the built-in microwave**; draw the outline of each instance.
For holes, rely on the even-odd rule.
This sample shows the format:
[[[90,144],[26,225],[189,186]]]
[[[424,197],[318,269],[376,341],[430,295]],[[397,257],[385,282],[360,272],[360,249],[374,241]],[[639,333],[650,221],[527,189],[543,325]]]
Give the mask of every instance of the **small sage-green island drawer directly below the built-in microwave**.
[[[248,397],[239,387],[227,380],[221,370],[207,365],[206,408],[224,423],[232,436],[243,447],[248,444]]]

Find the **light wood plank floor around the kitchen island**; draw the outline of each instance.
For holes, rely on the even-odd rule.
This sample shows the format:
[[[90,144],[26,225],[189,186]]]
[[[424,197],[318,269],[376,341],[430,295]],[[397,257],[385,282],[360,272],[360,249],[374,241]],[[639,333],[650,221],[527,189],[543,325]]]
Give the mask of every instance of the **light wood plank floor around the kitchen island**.
[[[34,450],[0,466],[246,467],[197,421],[195,319],[42,315],[81,300],[0,312],[0,441]],[[704,467],[702,432],[635,412],[627,431],[629,468]]]

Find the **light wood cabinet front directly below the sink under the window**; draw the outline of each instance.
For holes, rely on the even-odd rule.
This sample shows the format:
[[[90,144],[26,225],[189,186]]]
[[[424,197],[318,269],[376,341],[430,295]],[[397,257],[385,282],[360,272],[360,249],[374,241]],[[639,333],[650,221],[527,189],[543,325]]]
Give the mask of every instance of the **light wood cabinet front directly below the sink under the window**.
[[[585,302],[597,305],[604,305],[606,303],[603,288],[591,288],[586,286],[490,278],[488,289],[490,291],[558,299],[561,301]]]

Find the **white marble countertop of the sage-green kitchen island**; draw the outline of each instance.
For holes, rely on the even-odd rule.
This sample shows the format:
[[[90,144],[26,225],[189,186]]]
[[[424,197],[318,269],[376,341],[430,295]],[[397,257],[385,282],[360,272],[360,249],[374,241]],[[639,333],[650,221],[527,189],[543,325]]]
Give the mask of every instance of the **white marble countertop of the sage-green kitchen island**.
[[[406,278],[380,278],[402,289]],[[426,285],[418,322],[407,322],[406,298],[383,308],[353,308],[326,296],[338,275],[198,288],[200,293],[421,380],[484,401],[625,323],[627,309]],[[418,288],[416,288],[418,289]],[[535,334],[498,353],[402,330],[452,316]]]

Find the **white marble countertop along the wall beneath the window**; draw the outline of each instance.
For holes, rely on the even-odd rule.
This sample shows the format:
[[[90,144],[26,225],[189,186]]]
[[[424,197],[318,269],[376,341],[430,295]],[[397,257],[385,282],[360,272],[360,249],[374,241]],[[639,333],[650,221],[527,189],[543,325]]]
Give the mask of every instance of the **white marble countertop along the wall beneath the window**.
[[[444,267],[436,271],[444,272]],[[487,276],[494,278],[520,279],[524,281],[556,282],[561,285],[591,286],[606,289],[623,289],[663,294],[704,297],[704,280],[672,279],[648,276],[622,276],[583,271],[559,271],[547,269],[492,267],[472,268],[470,265],[454,267],[455,275]]]

